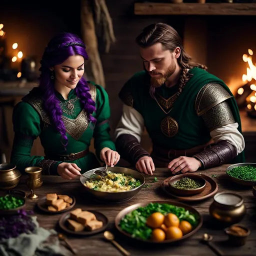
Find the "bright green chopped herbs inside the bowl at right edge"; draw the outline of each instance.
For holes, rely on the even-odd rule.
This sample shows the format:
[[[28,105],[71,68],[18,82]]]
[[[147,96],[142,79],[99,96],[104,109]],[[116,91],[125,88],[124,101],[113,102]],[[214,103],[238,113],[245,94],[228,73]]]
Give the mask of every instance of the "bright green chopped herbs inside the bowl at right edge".
[[[227,173],[234,178],[256,180],[256,168],[250,165],[234,167],[228,170]]]

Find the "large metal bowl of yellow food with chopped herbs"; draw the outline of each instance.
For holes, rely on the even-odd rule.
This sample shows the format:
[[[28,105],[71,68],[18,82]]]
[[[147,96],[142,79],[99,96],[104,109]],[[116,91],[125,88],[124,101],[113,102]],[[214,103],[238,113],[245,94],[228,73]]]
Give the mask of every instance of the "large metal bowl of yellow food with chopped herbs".
[[[122,202],[137,194],[145,183],[144,176],[136,170],[125,167],[107,167],[105,177],[94,174],[105,167],[89,170],[80,176],[83,188],[100,202]],[[125,190],[126,189],[126,190]]]

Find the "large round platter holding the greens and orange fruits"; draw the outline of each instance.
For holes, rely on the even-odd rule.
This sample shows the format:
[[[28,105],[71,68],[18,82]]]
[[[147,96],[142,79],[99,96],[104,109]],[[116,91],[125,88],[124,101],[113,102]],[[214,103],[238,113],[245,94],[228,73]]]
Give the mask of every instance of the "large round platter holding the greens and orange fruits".
[[[167,203],[167,204],[172,204],[172,205],[176,205],[178,207],[183,207],[185,210],[189,210],[191,213],[193,214],[196,214],[198,216],[198,224],[197,226],[189,233],[183,235],[181,238],[179,239],[169,239],[169,240],[163,240],[161,242],[156,242],[156,241],[151,241],[151,240],[144,240],[144,239],[141,239],[141,238],[137,238],[137,237],[132,237],[130,233],[127,233],[126,231],[123,231],[120,226],[119,226],[119,223],[121,221],[121,219],[128,213],[130,213],[132,210],[135,210],[137,209],[138,207],[144,207],[146,206],[148,203],[154,203],[154,202],[158,202],[158,203]],[[179,242],[181,240],[184,240],[186,238],[188,238],[189,236],[193,235],[194,233],[196,233],[199,228],[201,227],[202,225],[202,216],[200,215],[200,213],[195,209],[193,208],[192,206],[189,206],[187,204],[184,204],[182,202],[177,202],[177,201],[166,201],[166,200],[156,200],[156,201],[143,201],[143,202],[139,202],[139,203],[136,203],[136,204],[133,204],[133,205],[130,205],[126,208],[124,208],[123,210],[121,210],[117,216],[115,217],[115,227],[117,228],[117,230],[119,232],[121,232],[122,234],[124,234],[125,236],[131,238],[131,239],[135,239],[135,240],[138,240],[138,241],[142,241],[142,242],[146,242],[146,243],[175,243],[175,242]]]

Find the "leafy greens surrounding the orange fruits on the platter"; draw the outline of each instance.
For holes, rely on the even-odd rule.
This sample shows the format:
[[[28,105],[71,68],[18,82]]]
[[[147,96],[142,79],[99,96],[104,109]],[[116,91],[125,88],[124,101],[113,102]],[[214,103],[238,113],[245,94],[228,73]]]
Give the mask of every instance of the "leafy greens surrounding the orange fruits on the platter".
[[[131,234],[132,237],[141,239],[149,239],[152,229],[146,225],[146,219],[154,212],[162,214],[174,213],[179,220],[188,221],[193,227],[197,225],[199,216],[190,213],[183,207],[167,203],[152,203],[150,202],[145,207],[139,207],[126,214],[120,221],[119,226],[123,231]]]

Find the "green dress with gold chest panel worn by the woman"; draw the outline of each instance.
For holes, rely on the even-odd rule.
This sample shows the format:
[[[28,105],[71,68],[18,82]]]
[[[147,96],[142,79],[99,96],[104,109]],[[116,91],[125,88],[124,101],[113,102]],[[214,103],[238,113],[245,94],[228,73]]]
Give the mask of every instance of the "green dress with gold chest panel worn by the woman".
[[[92,114],[96,118],[96,123],[88,122],[85,110],[83,110],[79,98],[75,91],[71,90],[68,99],[64,99],[60,93],[55,91],[56,97],[60,101],[62,109],[62,120],[66,128],[68,144],[66,151],[60,141],[60,133],[50,124],[50,118],[42,107],[42,99],[38,87],[33,88],[22,101],[15,105],[13,109],[13,130],[14,141],[11,152],[11,162],[15,163],[21,173],[25,173],[27,166],[42,166],[43,174],[57,174],[57,165],[61,161],[45,159],[44,156],[31,156],[30,151],[33,140],[39,136],[47,155],[65,155],[77,153],[89,147],[91,138],[94,137],[94,147],[96,156],[99,159],[99,152],[103,147],[115,150],[113,141],[109,135],[108,118],[110,107],[106,91],[97,84],[91,82],[91,98],[95,101],[96,110]],[[72,111],[66,106],[68,101],[74,105]],[[96,168],[99,162],[92,152],[73,161],[81,168],[81,173]]]

